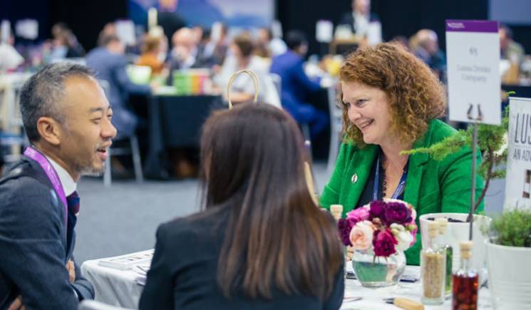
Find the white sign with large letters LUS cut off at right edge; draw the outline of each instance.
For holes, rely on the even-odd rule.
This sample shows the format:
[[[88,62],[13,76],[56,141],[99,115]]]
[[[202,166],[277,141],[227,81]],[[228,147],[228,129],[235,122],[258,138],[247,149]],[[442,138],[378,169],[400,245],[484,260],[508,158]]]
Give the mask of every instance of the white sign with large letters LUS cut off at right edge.
[[[531,99],[510,98],[504,210],[531,209]]]

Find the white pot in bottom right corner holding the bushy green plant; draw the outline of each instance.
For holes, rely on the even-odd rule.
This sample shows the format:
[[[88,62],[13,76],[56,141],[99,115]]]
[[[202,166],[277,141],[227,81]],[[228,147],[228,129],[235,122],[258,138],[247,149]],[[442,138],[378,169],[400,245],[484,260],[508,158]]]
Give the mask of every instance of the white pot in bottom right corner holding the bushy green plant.
[[[531,248],[485,245],[494,309],[531,309]]]

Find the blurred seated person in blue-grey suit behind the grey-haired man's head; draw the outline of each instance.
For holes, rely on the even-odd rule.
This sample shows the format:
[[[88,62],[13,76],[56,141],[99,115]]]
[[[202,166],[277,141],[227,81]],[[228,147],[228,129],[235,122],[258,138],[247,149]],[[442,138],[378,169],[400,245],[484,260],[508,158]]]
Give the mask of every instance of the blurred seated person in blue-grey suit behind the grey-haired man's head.
[[[127,60],[123,54],[125,45],[118,36],[104,35],[101,43],[102,46],[88,53],[86,63],[96,72],[98,79],[107,82],[105,94],[113,107],[113,125],[118,130],[116,139],[129,138],[135,133],[139,119],[128,105],[128,95],[130,93],[148,95],[151,93],[151,88],[130,81],[125,71],[125,66],[127,66]]]

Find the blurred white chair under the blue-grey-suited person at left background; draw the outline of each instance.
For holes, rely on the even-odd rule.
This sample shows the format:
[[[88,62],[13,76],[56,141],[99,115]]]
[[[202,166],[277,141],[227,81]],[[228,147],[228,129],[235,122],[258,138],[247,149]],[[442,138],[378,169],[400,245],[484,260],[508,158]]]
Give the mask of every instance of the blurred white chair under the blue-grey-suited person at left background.
[[[99,80],[101,88],[105,94],[108,94],[109,83],[105,80]],[[111,156],[121,156],[121,155],[131,155],[133,156],[133,168],[135,170],[135,179],[136,182],[141,183],[144,181],[143,171],[142,171],[142,160],[140,158],[140,148],[138,147],[138,138],[136,135],[131,135],[129,138],[123,140],[128,140],[129,147],[113,147],[109,148],[109,154],[105,160],[105,172],[103,172],[103,184],[106,187],[110,187],[112,183],[112,167],[111,167]]]

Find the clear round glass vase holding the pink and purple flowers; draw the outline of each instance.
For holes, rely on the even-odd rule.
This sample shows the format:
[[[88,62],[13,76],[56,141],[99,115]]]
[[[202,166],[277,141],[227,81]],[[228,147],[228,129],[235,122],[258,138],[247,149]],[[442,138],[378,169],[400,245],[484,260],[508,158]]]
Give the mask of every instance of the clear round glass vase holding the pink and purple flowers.
[[[397,251],[389,257],[375,257],[372,250],[354,251],[352,267],[364,287],[395,285],[406,270],[406,255]]]

